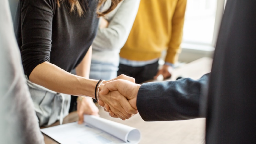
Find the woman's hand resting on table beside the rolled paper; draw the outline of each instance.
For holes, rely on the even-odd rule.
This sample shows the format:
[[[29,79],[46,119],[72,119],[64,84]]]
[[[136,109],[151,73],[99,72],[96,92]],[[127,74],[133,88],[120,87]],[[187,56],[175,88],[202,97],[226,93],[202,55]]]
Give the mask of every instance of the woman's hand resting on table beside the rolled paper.
[[[77,114],[79,117],[78,124],[81,124],[84,122],[84,115],[99,116],[99,109],[91,97],[82,97],[81,100],[77,100]]]

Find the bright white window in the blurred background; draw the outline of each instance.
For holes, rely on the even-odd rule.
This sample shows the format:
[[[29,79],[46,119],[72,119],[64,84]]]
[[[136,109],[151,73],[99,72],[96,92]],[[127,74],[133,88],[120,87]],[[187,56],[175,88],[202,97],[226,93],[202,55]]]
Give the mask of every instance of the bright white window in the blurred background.
[[[213,48],[225,0],[187,0],[181,47]]]

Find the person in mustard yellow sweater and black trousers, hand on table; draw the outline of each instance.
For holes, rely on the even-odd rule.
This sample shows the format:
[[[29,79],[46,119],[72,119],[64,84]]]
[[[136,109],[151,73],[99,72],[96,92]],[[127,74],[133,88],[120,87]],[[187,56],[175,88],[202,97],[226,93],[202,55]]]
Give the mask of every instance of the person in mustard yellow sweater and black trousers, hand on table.
[[[134,77],[136,83],[156,79],[171,71],[181,52],[187,0],[141,0],[130,35],[120,51],[118,75]],[[158,60],[166,50],[165,64]]]

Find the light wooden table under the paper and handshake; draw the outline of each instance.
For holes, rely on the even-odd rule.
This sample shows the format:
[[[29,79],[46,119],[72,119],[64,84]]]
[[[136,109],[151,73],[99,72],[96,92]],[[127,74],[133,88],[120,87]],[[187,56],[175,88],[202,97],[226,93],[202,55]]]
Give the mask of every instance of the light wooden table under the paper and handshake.
[[[199,79],[203,74],[210,72],[212,59],[201,58],[176,68],[170,80],[176,80],[178,76]],[[128,120],[111,118],[97,103],[99,115],[102,118],[123,123],[135,127],[141,132],[140,144],[204,144],[205,118],[181,120],[181,121],[154,121],[145,122],[139,114]],[[78,120],[76,112],[71,112],[63,123]],[[51,126],[58,125],[59,122]],[[50,127],[51,127],[50,126]],[[44,135],[46,144],[58,144],[56,141]]]

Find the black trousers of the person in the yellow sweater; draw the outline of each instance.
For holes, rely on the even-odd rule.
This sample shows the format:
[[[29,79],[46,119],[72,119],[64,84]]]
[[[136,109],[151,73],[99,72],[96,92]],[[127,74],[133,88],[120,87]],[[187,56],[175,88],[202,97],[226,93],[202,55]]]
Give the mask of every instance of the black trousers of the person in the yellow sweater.
[[[131,67],[120,63],[117,74],[131,76],[135,79],[136,83],[143,83],[153,79],[158,72],[158,65],[158,61],[152,64],[147,64],[143,67]]]

